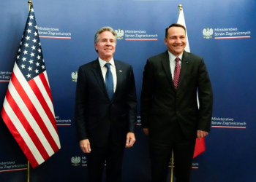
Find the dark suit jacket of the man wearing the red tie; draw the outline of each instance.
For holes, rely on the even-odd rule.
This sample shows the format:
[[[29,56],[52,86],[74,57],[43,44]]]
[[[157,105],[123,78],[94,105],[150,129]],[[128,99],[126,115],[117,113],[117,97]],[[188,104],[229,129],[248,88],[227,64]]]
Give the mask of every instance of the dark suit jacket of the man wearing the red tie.
[[[211,82],[203,58],[197,55],[184,51],[177,90],[168,52],[149,58],[143,72],[140,100],[142,126],[148,128],[150,138],[169,140],[176,122],[191,140],[196,138],[197,130],[210,131]]]

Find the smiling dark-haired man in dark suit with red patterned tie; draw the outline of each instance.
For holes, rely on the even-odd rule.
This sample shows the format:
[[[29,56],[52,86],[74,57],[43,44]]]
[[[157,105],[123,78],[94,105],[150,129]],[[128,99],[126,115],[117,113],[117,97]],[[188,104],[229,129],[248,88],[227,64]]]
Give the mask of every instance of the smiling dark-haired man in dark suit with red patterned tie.
[[[142,127],[149,136],[152,181],[166,182],[173,150],[176,182],[187,182],[195,139],[210,131],[211,82],[203,58],[184,51],[183,25],[166,28],[165,44],[167,51],[149,58],[143,72]]]

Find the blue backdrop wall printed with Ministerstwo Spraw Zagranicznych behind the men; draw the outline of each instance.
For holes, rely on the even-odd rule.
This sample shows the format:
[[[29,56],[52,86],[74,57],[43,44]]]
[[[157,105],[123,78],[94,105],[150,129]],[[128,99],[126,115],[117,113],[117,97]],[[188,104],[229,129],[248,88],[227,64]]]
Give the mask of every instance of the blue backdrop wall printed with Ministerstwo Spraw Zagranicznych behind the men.
[[[80,65],[97,58],[95,31],[109,25],[115,30],[157,34],[157,41],[126,41],[125,36],[117,41],[114,58],[132,64],[140,101],[146,59],[166,50],[165,28],[177,22],[178,4],[184,8],[190,50],[204,58],[211,77],[213,117],[246,123],[244,129],[227,128],[223,124],[214,127],[213,124],[206,137],[206,151],[193,161],[198,168],[192,170],[191,181],[255,181],[255,1],[34,0],[33,4],[37,26],[71,33],[71,39],[40,39],[56,117],[70,119],[71,125],[58,126],[61,150],[39,167],[31,169],[31,181],[85,181],[85,159],[82,159],[83,152],[75,140],[76,83],[72,82],[71,74],[78,71]],[[0,71],[12,72],[27,16],[26,1],[1,4]],[[214,35],[211,39],[204,39],[204,28],[213,28],[214,33],[219,33],[215,28],[237,28],[251,34],[249,39],[214,39],[217,37]],[[0,103],[4,101],[7,86],[8,82],[0,82]],[[15,170],[18,167],[4,163],[15,162],[15,165],[26,168],[27,160],[1,118],[0,138],[1,181],[26,181],[26,170]],[[123,179],[150,181],[148,141],[140,125],[136,138],[135,146],[126,149],[124,154]],[[72,164],[72,157],[81,158],[78,166]]]

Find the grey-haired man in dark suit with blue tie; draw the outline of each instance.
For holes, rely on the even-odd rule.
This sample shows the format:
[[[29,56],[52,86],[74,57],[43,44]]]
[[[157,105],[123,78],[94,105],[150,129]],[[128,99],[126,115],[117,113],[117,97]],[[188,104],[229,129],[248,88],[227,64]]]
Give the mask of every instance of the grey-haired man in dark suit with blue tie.
[[[86,154],[89,181],[121,181],[125,147],[135,143],[137,98],[132,66],[113,59],[113,28],[100,28],[94,37],[99,58],[78,71],[75,125],[80,148]]]

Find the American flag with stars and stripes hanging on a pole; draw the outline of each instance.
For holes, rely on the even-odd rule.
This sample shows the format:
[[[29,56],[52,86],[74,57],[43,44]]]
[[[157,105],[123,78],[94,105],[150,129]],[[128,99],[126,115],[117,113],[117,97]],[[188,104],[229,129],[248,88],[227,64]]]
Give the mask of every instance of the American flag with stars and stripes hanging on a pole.
[[[61,149],[45,60],[31,6],[1,116],[32,167]]]

